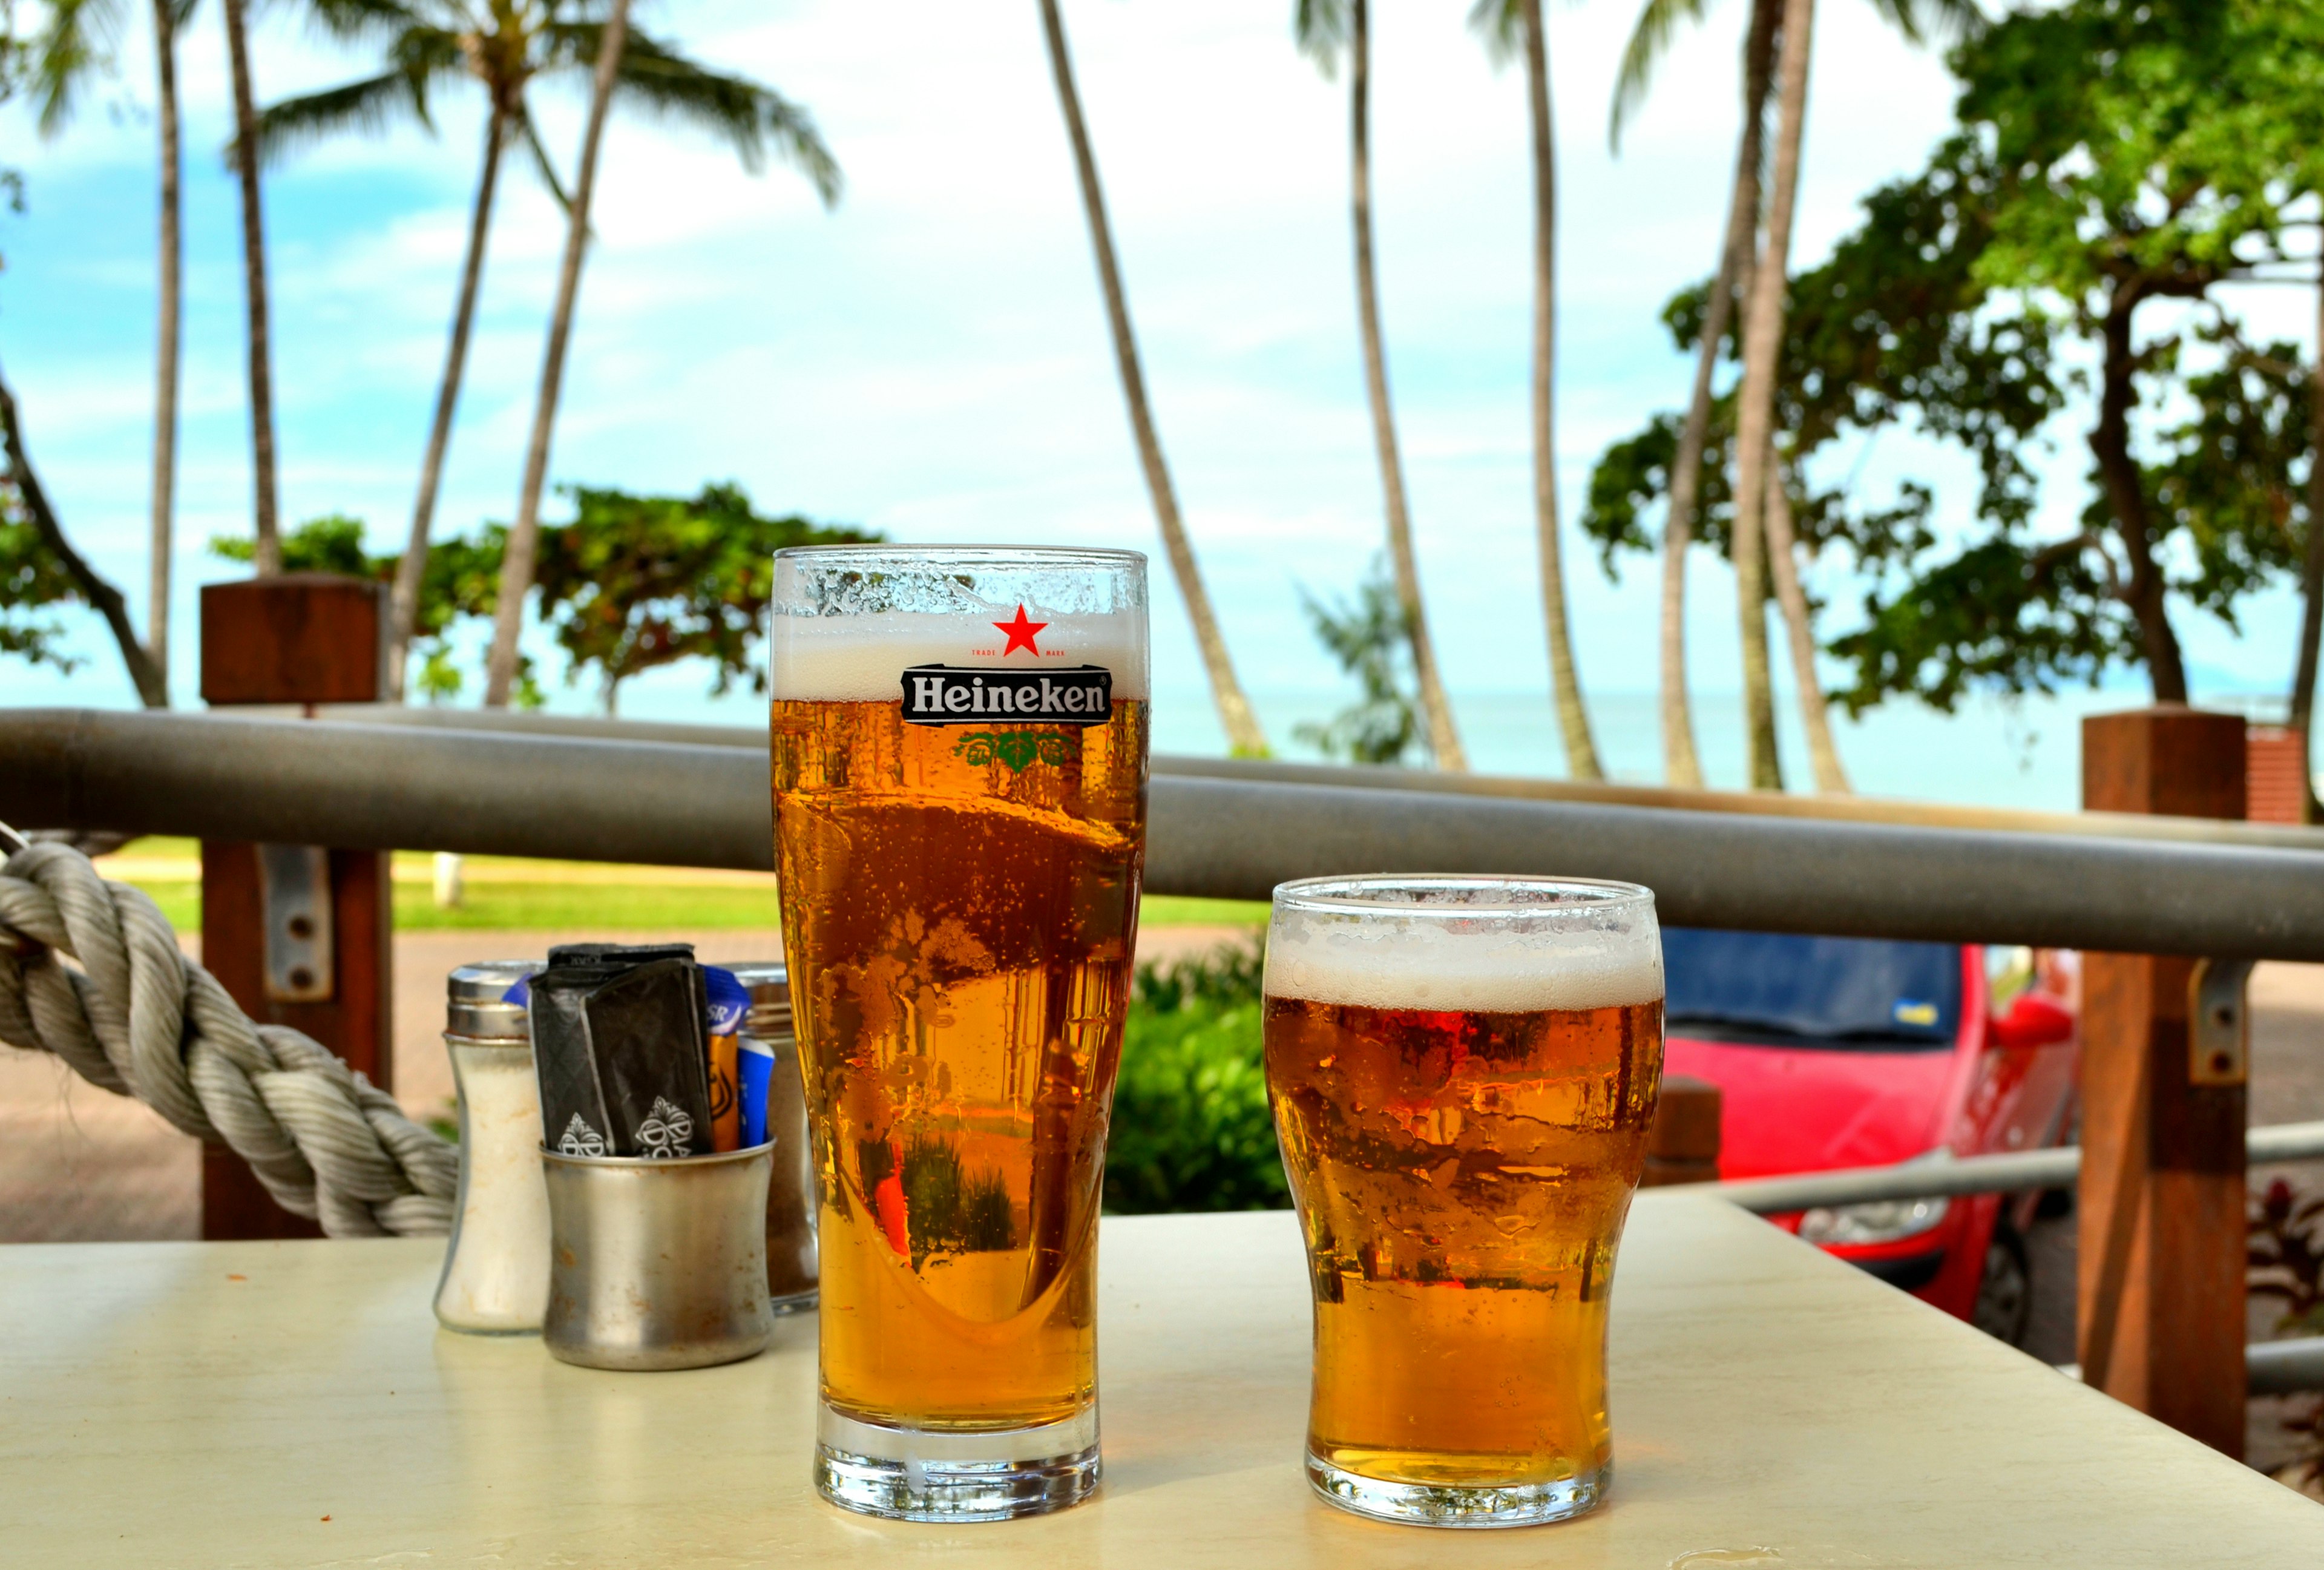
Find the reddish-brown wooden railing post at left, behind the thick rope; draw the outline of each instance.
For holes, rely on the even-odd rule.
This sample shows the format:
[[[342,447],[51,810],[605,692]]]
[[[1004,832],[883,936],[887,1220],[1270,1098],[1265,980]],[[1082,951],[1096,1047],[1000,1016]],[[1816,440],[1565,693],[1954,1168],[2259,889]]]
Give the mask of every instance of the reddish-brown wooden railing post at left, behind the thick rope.
[[[232,704],[372,704],[386,690],[386,585],[288,574],[202,588],[202,699]],[[290,968],[270,987],[265,876],[258,845],[202,843],[202,964],[260,1024],[288,1024],[393,1085],[393,929],[388,857],[330,850],[328,966]],[[297,917],[293,917],[297,920]],[[309,922],[302,931],[321,929]],[[325,950],[318,950],[325,952]],[[323,973],[328,971],[328,973]],[[202,1147],[205,1238],[318,1238],[223,1145]]]

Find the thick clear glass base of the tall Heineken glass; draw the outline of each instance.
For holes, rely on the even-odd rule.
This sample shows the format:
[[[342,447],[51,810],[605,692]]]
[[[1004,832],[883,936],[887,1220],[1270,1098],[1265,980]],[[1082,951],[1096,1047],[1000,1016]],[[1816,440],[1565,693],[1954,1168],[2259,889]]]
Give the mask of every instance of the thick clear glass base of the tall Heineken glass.
[[[862,1424],[816,1405],[816,1493],[890,1521],[1009,1521],[1097,1489],[1097,1407],[1062,1424],[953,1433]]]

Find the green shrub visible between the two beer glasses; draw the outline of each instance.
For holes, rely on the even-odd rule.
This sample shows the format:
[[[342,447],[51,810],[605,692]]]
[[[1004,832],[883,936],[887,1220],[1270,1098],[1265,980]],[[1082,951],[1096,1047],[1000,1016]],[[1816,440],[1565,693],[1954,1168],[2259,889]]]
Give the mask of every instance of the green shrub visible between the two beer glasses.
[[[1106,1140],[1106,1210],[1290,1203],[1260,1045],[1260,950],[1139,966]]]

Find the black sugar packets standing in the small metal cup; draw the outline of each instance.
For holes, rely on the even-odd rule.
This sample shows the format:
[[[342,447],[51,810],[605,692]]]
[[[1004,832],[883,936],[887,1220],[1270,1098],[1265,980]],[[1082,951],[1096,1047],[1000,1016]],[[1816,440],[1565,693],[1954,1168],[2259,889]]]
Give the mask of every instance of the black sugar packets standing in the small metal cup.
[[[551,1150],[711,1154],[706,996],[690,943],[567,943],[528,992]]]

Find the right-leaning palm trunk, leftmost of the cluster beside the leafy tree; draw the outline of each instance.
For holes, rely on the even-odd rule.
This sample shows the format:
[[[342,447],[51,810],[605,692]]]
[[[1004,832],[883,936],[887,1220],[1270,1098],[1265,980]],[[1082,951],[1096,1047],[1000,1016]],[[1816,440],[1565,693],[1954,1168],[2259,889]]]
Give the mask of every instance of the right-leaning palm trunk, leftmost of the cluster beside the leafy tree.
[[[1703,334],[1694,346],[1694,392],[1687,399],[1687,423],[1678,430],[1671,509],[1662,525],[1662,769],[1678,790],[1703,787],[1703,764],[1694,750],[1694,713],[1687,704],[1687,546],[1694,539],[1703,446],[1710,439],[1710,381],[1759,232],[1759,160],[1778,16],[1780,0],[1752,0],[1750,33],[1743,39],[1743,137],[1736,146],[1734,195],[1727,202],[1727,239],[1720,246],[1720,274],[1710,283]]]

